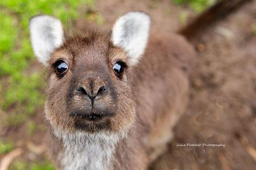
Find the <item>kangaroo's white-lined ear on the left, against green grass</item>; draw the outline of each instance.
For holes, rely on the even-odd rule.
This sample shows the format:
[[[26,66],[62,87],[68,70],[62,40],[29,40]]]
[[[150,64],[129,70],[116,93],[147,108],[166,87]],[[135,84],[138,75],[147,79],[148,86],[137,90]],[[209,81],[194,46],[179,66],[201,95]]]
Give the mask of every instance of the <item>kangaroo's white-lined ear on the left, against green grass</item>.
[[[39,61],[46,64],[51,53],[63,44],[62,24],[54,17],[38,15],[30,19],[29,29],[34,53]]]

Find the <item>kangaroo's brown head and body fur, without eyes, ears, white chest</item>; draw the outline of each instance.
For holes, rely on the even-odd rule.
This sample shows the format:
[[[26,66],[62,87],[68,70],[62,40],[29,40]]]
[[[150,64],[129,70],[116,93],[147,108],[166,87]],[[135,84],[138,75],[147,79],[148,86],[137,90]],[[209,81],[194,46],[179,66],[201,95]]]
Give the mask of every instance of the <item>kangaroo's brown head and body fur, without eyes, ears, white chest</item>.
[[[69,65],[61,78],[53,67],[58,59]],[[128,65],[121,79],[112,70],[116,60]],[[70,133],[119,132],[128,128],[127,137],[115,150],[113,167],[147,169],[150,161],[161,154],[157,148],[168,142],[172,127],[187,105],[193,60],[194,50],[179,35],[152,34],[145,55],[136,66],[129,66],[126,53],[114,47],[109,37],[99,33],[76,35],[66,40],[48,61],[46,117],[53,129],[61,127]],[[86,84],[84,78],[104,82],[111,91],[99,105],[114,116],[100,120],[98,126],[69,116],[70,111],[81,109],[81,102],[86,106],[84,99],[69,96],[78,83]],[[56,156],[63,149],[62,141],[54,135],[51,141],[52,155],[59,166]]]

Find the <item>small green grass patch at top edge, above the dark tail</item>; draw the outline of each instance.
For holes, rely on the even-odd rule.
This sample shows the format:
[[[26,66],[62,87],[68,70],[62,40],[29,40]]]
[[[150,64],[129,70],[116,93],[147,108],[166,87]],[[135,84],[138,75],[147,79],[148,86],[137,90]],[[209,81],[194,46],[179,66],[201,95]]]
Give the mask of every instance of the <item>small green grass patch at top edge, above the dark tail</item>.
[[[213,5],[216,0],[173,0],[176,5],[187,4],[196,12],[202,12]]]

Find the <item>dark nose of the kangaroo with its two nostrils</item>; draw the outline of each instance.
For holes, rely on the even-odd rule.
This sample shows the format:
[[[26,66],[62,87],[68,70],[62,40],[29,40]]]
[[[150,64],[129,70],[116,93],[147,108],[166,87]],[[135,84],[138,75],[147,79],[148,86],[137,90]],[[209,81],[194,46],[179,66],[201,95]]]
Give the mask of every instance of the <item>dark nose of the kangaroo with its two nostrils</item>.
[[[108,89],[102,81],[84,81],[83,83],[79,83],[76,90],[80,94],[90,98],[92,102],[102,99],[108,93]]]

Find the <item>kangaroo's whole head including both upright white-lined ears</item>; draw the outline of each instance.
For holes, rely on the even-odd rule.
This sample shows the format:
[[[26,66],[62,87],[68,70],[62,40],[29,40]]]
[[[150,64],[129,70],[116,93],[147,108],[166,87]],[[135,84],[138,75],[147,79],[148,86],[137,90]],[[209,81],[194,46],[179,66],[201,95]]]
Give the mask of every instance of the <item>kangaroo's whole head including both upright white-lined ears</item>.
[[[129,129],[136,116],[131,69],[145,50],[149,25],[147,14],[130,12],[116,21],[110,37],[92,33],[64,39],[59,20],[31,19],[33,50],[47,69],[45,114],[54,130]]]

